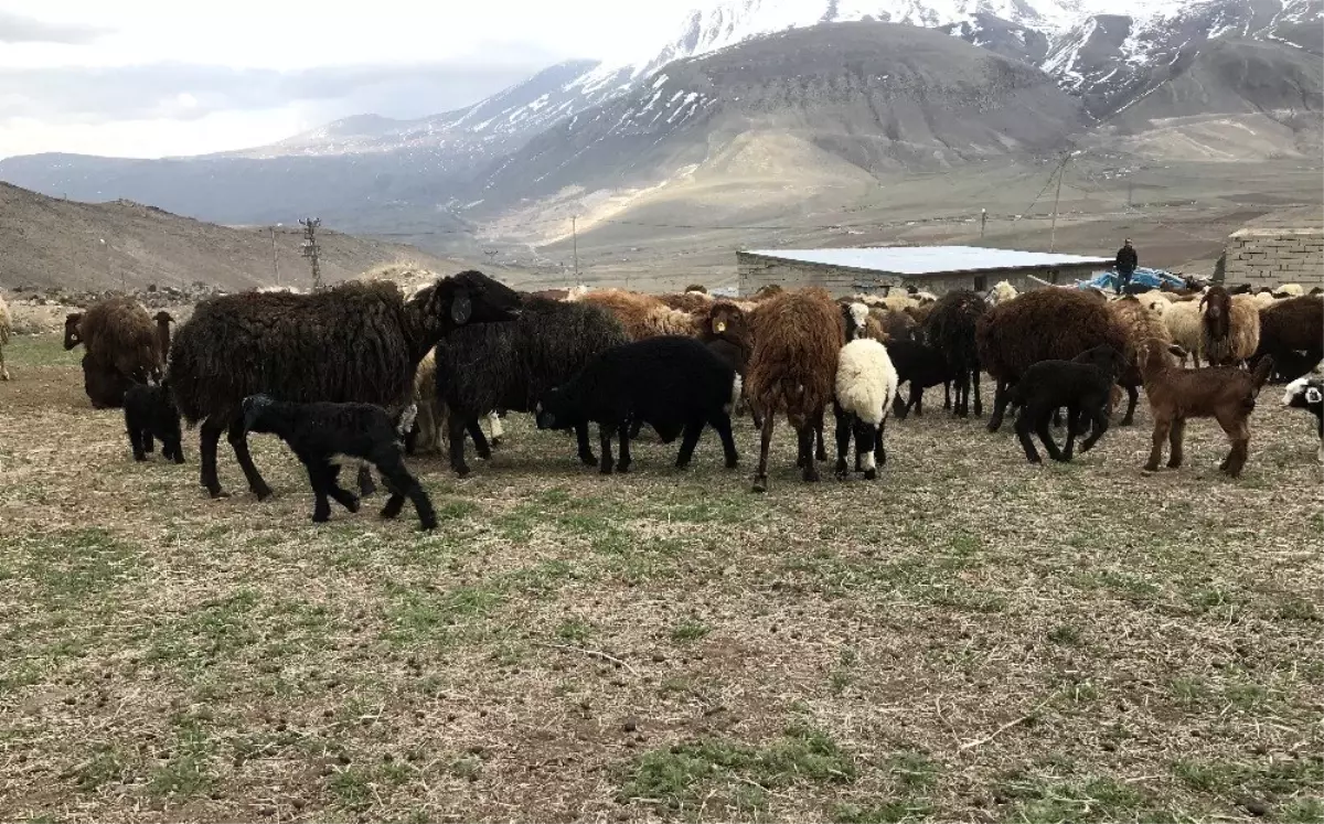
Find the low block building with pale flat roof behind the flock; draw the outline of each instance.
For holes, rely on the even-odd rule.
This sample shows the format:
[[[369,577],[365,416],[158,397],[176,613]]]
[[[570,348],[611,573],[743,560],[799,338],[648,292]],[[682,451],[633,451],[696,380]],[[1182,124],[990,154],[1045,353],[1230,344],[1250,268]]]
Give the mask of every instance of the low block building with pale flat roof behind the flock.
[[[1110,269],[1112,258],[980,246],[874,246],[736,252],[740,294],[761,286],[822,286],[833,297],[883,286],[916,286],[933,294],[984,291],[1008,281],[1019,291],[1074,283]]]

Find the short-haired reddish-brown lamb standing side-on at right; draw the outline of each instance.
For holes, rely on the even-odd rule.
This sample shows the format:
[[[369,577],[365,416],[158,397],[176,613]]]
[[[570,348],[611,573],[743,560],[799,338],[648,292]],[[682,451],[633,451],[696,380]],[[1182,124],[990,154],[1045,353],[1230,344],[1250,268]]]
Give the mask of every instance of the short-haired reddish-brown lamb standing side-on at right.
[[[1157,340],[1140,347],[1140,371],[1155,419],[1153,448],[1145,472],[1158,472],[1165,440],[1172,445],[1168,468],[1180,468],[1186,419],[1213,417],[1231,441],[1231,452],[1218,469],[1235,478],[1246,466],[1250,413],[1255,411],[1255,397],[1274,370],[1274,359],[1263,358],[1254,372],[1229,367],[1184,370],[1172,359],[1184,354],[1180,346],[1162,346]]]

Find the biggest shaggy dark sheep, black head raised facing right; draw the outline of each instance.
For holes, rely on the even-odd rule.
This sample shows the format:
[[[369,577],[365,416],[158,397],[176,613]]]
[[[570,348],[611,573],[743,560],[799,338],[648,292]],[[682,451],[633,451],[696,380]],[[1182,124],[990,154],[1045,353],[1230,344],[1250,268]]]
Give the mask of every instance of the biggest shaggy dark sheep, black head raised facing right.
[[[191,425],[203,423],[203,486],[221,495],[216,446],[228,429],[249,488],[271,494],[248,450],[245,397],[402,408],[428,350],[458,327],[511,321],[519,305],[518,293],[479,272],[440,278],[408,302],[389,282],[204,301],[176,333],[169,364],[175,404]]]

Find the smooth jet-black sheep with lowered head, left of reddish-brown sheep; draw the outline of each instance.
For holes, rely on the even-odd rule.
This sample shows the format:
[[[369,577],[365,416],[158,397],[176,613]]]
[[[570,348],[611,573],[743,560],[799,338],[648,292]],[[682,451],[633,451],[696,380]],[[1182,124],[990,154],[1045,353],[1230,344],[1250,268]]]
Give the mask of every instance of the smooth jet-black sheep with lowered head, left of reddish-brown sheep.
[[[694,338],[661,336],[616,346],[588,363],[569,383],[549,391],[538,407],[539,429],[579,421],[598,425],[601,472],[612,474],[612,433],[621,438],[617,472],[630,469],[630,423],[653,427],[663,444],[685,435],[675,465],[690,464],[704,424],[718,431],[727,469],[739,460],[731,437],[731,411],[740,397],[735,370]]]

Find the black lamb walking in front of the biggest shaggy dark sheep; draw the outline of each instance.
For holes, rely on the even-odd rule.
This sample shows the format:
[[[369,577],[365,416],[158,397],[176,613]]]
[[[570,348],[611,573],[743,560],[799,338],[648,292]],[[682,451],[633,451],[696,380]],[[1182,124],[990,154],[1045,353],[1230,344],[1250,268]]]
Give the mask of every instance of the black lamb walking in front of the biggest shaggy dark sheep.
[[[422,529],[436,529],[437,514],[428,493],[405,469],[401,429],[408,431],[412,420],[397,424],[376,404],[287,403],[273,400],[269,395],[245,397],[241,409],[240,427],[245,436],[267,432],[279,437],[307,468],[316,497],[314,522],[331,518],[328,498],[335,498],[351,513],[359,511],[359,498],[336,482],[340,473],[336,462],[351,457],[372,464],[381,473],[391,491],[381,510],[383,518],[399,515],[408,497],[418,511]]]

